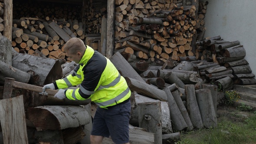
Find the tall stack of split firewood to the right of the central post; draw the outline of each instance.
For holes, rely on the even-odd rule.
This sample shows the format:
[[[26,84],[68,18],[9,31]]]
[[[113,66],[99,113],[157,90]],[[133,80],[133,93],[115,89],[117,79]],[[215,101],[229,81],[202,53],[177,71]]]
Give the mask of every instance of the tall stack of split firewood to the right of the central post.
[[[186,5],[190,3],[183,6],[176,3],[173,0],[116,0],[116,51],[150,61],[193,56],[191,42],[196,32],[197,8]]]

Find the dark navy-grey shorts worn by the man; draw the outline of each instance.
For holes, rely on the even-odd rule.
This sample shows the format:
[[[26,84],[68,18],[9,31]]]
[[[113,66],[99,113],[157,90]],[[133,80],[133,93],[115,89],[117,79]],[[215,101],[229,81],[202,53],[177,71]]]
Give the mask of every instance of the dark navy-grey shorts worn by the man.
[[[109,137],[115,144],[129,142],[130,100],[109,109],[97,108],[92,122],[92,135]]]

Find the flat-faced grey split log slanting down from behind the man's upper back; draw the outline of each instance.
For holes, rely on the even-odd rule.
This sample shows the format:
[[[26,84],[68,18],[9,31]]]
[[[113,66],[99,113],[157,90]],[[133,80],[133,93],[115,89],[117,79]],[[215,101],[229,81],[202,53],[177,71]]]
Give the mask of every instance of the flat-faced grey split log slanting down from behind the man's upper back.
[[[141,76],[131,67],[131,65],[125,60],[125,58],[120,54],[120,52],[116,52],[110,58],[110,61],[115,65],[116,69],[121,71],[122,76],[144,82]]]

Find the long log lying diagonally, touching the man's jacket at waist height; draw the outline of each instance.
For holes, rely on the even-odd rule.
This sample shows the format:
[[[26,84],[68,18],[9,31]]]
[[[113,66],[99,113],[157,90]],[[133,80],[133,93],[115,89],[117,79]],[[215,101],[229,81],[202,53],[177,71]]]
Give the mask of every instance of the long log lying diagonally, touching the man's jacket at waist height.
[[[139,94],[145,95],[149,98],[167,101],[167,95],[161,89],[129,77],[125,77],[125,80],[131,91],[138,92]]]

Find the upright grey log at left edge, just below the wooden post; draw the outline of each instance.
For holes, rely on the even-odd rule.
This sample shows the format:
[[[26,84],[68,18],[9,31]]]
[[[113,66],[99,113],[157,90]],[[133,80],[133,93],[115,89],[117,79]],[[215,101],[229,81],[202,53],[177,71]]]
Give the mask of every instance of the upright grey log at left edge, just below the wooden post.
[[[0,61],[12,66],[12,44],[5,36],[0,36]]]

